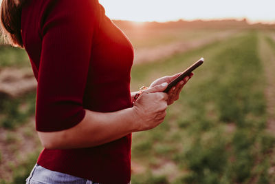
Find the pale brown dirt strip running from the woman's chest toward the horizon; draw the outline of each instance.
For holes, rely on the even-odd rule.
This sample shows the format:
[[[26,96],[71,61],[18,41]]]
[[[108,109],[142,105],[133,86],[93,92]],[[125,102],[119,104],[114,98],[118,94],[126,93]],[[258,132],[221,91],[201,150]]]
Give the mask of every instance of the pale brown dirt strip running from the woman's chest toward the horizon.
[[[214,41],[220,41],[225,38],[236,34],[237,31],[225,31],[215,34],[211,37],[206,37],[204,39],[194,39],[192,41],[179,41],[174,43],[169,43],[167,45],[159,45],[155,48],[141,48],[135,50],[134,64],[146,63],[150,61],[155,61],[157,59],[163,59],[172,56],[173,54],[179,52],[186,52],[195,48],[199,48],[203,45],[208,45],[214,43]]]

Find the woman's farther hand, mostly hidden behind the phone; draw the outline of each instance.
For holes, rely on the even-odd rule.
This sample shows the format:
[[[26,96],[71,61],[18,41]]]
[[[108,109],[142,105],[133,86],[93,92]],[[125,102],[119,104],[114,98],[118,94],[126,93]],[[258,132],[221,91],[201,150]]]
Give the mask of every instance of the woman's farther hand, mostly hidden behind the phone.
[[[155,85],[159,85],[162,83],[170,83],[174,79],[177,78],[181,73],[175,74],[173,76],[163,76],[162,78],[159,78],[153,83],[151,83],[149,88],[153,88]],[[187,83],[187,81],[193,76],[194,74],[191,72],[189,76],[186,76],[182,81],[179,81],[177,85],[175,85],[173,88],[171,88],[168,92],[168,100],[167,104],[171,105],[174,103],[174,101],[177,101],[179,99],[179,93],[181,92],[184,85]]]

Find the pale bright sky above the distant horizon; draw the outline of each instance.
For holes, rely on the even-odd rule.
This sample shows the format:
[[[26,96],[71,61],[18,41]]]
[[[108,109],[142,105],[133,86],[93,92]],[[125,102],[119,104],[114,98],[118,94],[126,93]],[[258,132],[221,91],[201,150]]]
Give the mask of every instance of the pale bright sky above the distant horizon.
[[[275,23],[275,0],[99,0],[111,19],[177,21],[243,19]]]

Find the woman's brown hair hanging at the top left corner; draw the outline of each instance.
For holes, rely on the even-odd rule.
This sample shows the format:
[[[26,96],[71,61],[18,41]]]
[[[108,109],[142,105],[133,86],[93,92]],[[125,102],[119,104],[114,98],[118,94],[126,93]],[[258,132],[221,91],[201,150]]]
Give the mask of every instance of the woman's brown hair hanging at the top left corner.
[[[1,32],[4,41],[23,48],[21,12],[25,0],[2,0],[0,9]]]

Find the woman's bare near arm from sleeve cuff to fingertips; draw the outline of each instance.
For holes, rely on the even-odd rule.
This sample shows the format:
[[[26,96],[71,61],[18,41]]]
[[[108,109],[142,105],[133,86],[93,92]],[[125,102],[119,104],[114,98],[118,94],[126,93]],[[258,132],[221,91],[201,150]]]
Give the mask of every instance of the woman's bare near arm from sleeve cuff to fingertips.
[[[109,143],[131,132],[149,130],[164,121],[168,95],[162,91],[167,84],[144,91],[133,108],[118,112],[86,114],[80,123],[67,130],[38,132],[47,149],[92,147]]]

